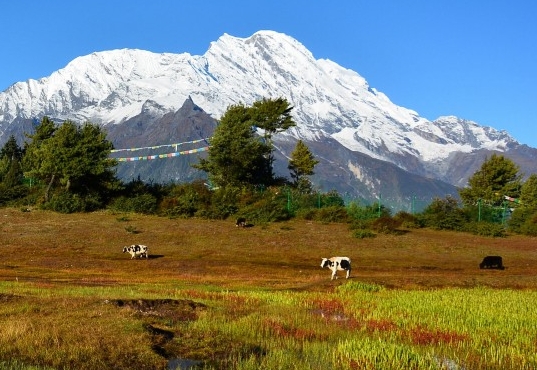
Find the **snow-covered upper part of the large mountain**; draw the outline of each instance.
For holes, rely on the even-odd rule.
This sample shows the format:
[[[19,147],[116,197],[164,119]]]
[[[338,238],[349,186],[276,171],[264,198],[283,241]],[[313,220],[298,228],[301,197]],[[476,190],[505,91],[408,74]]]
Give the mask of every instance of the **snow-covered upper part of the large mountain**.
[[[276,138],[282,157],[302,139],[323,158],[327,169],[320,173],[349,176],[346,191],[366,183],[377,188],[370,193],[380,191],[378,179],[365,178],[364,158],[452,186],[464,186],[492,151],[510,153],[524,163],[524,172],[537,172],[536,150],[507,132],[457,117],[429,121],[392,103],[357,72],[315,59],[300,42],[273,31],[248,38],[224,34],[201,56],[131,49],[96,52],[48,77],[18,82],[0,93],[0,145],[44,115],[55,121],[121,125],[144,109],[163,116],[191,99],[219,119],[231,104],[264,97],[284,97],[294,106],[297,126]],[[333,158],[334,152],[344,155]],[[463,158],[472,166],[457,168]],[[316,180],[323,181],[319,176]]]

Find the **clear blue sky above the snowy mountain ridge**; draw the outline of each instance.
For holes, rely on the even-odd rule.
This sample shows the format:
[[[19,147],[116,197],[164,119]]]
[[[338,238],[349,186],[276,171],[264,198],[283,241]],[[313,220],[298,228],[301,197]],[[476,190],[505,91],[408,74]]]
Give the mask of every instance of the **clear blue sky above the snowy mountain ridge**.
[[[533,0],[17,0],[0,6],[0,91],[122,48],[204,54],[274,30],[362,75],[394,103],[455,115],[537,148]]]

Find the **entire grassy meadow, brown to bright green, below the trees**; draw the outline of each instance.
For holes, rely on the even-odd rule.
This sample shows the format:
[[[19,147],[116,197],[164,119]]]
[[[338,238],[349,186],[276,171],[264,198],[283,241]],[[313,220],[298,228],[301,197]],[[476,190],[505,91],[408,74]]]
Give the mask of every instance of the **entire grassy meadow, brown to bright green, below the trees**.
[[[537,369],[536,238],[12,208],[0,238],[0,369]]]

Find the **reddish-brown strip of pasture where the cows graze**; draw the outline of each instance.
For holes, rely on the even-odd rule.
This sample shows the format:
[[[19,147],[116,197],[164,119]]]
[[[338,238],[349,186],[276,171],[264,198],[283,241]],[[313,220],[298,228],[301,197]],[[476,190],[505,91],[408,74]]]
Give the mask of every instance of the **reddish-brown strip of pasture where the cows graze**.
[[[387,288],[537,286],[536,238],[523,236],[411,229],[356,239],[349,225],[303,220],[237,228],[233,220],[17,209],[1,209],[0,220],[4,280],[108,285],[172,279],[194,284],[193,290],[207,284],[325,291],[347,280],[330,281],[321,258],[346,255],[353,261],[350,281]],[[149,260],[121,253],[130,244],[148,245]],[[479,269],[486,255],[502,256],[506,269]]]

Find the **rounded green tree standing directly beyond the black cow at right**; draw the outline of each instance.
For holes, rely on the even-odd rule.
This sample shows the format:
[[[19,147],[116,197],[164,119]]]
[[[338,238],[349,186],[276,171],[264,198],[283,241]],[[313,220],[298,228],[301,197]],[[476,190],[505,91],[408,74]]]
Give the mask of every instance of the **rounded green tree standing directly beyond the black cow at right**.
[[[465,206],[478,202],[500,206],[505,196],[520,196],[521,178],[519,167],[502,155],[493,154],[468,180],[468,187],[459,190]]]

